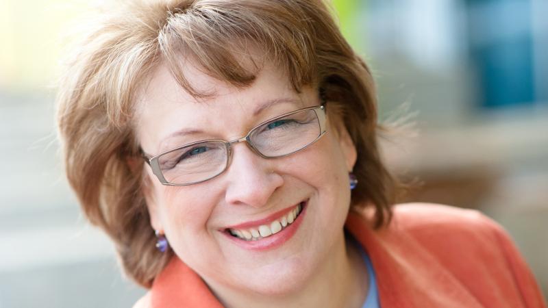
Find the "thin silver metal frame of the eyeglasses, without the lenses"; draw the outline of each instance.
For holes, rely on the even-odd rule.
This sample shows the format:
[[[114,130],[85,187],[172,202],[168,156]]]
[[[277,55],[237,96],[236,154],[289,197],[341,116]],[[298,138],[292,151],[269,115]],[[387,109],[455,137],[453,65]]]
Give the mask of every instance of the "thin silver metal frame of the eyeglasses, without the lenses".
[[[262,153],[260,153],[260,151],[258,149],[256,149],[256,147],[253,145],[253,142],[251,142],[251,138],[250,138],[251,133],[253,133],[253,131],[255,131],[258,127],[260,127],[260,126],[262,126],[266,123],[269,123],[271,121],[277,120],[279,118],[284,118],[286,116],[290,116],[292,114],[296,114],[297,112],[302,112],[302,111],[305,111],[305,110],[314,110],[314,112],[316,113],[316,117],[318,118],[318,122],[319,122],[319,125],[320,125],[320,133],[316,137],[316,139],[314,139],[312,142],[310,142],[306,146],[303,146],[301,149],[298,149],[297,151],[292,151],[291,153],[287,153],[287,154],[284,154],[284,155],[266,156],[266,155],[263,155]],[[214,177],[218,177],[219,175],[223,174],[223,172],[225,172],[227,170],[228,166],[230,166],[230,162],[232,161],[232,144],[236,144],[236,143],[240,143],[240,142],[246,142],[247,146],[249,146],[249,149],[251,149],[251,151],[253,151],[254,153],[256,153],[257,155],[259,155],[260,157],[263,157],[263,158],[284,157],[284,156],[287,156],[287,155],[291,155],[293,153],[297,153],[297,152],[299,152],[303,149],[306,149],[306,148],[308,148],[308,146],[311,146],[316,141],[318,141],[326,133],[326,118],[327,118],[327,116],[326,116],[326,113],[325,113],[325,105],[306,107],[306,108],[302,108],[302,109],[295,110],[295,111],[292,111],[292,112],[288,112],[286,114],[282,114],[280,116],[276,116],[274,118],[270,118],[269,120],[266,120],[266,121],[256,125],[252,129],[250,129],[246,136],[244,136],[242,138],[232,140],[232,141],[225,141],[225,140],[221,140],[221,139],[199,140],[199,141],[196,141],[196,142],[183,144],[182,146],[177,146],[175,149],[171,149],[169,151],[162,152],[162,153],[160,153],[158,155],[154,155],[152,157],[149,157],[149,155],[147,155],[144,151],[141,150],[141,155],[142,155],[143,159],[145,159],[145,162],[147,162],[147,164],[149,164],[149,166],[151,167],[153,174],[156,177],[158,177],[158,180],[163,185],[169,185],[169,186],[194,185],[194,184],[198,184],[198,183],[203,183],[205,181],[209,181],[210,179],[213,179]],[[202,181],[197,181],[197,182],[192,182],[192,183],[184,183],[184,184],[174,184],[174,183],[170,183],[169,181],[167,181],[166,178],[164,177],[164,175],[162,174],[162,170],[160,170],[160,162],[158,161],[158,158],[160,158],[160,156],[165,155],[167,153],[171,153],[173,151],[178,151],[178,150],[180,150],[180,149],[182,149],[186,146],[192,146],[193,144],[199,144],[201,142],[222,142],[223,144],[225,144],[227,155],[228,155],[227,163],[225,164],[225,168],[223,168],[223,170],[219,171],[219,173],[217,173],[216,175],[214,175],[214,176],[212,176],[208,179],[202,180]]]

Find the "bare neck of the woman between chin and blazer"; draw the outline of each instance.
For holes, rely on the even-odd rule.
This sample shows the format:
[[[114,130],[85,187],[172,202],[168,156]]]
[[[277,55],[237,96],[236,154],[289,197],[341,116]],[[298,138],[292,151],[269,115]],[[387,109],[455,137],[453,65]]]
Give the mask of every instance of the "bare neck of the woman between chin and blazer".
[[[362,307],[368,287],[362,255],[341,232],[332,254],[301,289],[283,296],[232,293],[221,299],[225,307]]]

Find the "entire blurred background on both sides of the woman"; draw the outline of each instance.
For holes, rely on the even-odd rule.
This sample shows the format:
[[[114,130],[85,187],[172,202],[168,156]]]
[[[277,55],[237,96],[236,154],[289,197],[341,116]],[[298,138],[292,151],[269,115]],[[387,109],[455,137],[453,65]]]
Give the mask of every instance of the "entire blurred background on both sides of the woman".
[[[95,2],[0,0],[1,308],[131,307],[144,293],[79,214],[55,140],[62,34]],[[390,168],[420,184],[404,201],[494,218],[548,294],[548,1],[334,6],[382,120],[410,129],[383,138]]]

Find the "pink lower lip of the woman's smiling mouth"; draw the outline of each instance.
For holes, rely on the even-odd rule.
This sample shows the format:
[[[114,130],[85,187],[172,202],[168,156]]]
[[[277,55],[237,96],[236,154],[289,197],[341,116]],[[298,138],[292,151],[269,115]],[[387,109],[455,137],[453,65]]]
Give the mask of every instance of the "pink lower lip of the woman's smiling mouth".
[[[276,234],[270,235],[267,238],[262,238],[260,240],[254,240],[254,241],[253,240],[246,241],[240,238],[236,238],[230,235],[228,232],[223,232],[223,233],[230,240],[232,240],[234,243],[236,243],[238,246],[242,248],[249,249],[251,251],[268,251],[268,250],[277,248],[279,246],[282,246],[282,244],[290,240],[290,238],[292,238],[293,235],[295,235],[295,233],[297,232],[297,228],[299,228],[299,225],[304,219],[307,208],[308,208],[308,201],[303,203],[303,208],[301,209],[301,213],[292,224],[290,224],[288,227],[286,227],[282,231],[279,231]]]

